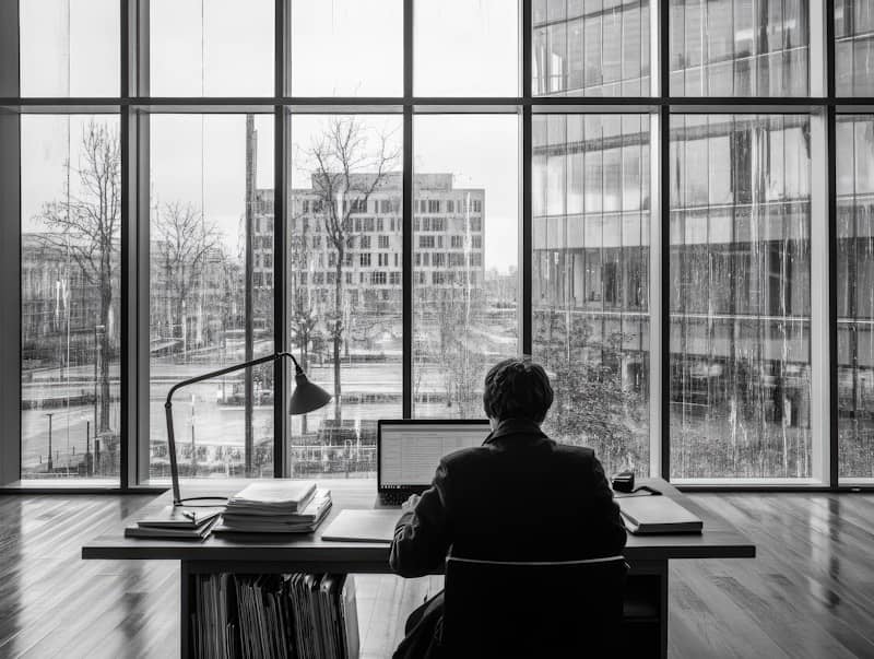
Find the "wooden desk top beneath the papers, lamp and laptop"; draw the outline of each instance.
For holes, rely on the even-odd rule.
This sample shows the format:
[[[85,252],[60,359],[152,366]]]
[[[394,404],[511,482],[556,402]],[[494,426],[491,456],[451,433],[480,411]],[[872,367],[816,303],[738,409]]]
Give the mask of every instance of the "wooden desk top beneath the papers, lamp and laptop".
[[[229,495],[246,481],[223,480],[185,483],[184,496]],[[218,561],[243,563],[299,563],[300,569],[324,572],[387,573],[389,545],[365,542],[329,542],[321,532],[343,508],[373,508],[376,501],[374,480],[319,480],[333,495],[329,518],[315,533],[259,537],[248,540],[237,536],[212,534],[202,542],[125,538],[125,527],[135,523],[146,510],[169,505],[166,492],[142,510],[121,521],[111,533],[92,540],[82,548],[83,558]],[[724,519],[706,511],[686,495],[661,479],[641,481],[677,499],[704,520],[698,536],[628,536],[625,556],[629,562],[670,558],[752,558],[756,548]],[[399,513],[400,515],[400,513]],[[310,566],[310,567],[307,567]]]

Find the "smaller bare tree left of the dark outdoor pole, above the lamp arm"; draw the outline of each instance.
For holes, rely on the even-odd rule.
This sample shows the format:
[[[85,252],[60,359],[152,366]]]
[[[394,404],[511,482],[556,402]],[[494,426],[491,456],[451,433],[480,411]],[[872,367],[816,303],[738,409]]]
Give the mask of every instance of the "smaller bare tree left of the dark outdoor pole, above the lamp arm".
[[[174,336],[187,346],[189,296],[203,287],[199,283],[204,276],[204,266],[210,255],[218,254],[218,233],[214,225],[206,224],[193,204],[174,201],[164,204],[163,212],[156,214],[152,237],[156,252],[153,259],[164,272],[165,285],[172,294],[168,316]]]

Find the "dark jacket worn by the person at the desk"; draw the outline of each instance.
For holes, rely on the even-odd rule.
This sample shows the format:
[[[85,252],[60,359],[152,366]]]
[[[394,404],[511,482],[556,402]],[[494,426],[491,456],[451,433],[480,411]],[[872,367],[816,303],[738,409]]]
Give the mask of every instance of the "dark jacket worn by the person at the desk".
[[[394,530],[391,568],[418,577],[453,555],[491,561],[614,556],[625,525],[591,448],[507,420],[483,446],[453,452]]]

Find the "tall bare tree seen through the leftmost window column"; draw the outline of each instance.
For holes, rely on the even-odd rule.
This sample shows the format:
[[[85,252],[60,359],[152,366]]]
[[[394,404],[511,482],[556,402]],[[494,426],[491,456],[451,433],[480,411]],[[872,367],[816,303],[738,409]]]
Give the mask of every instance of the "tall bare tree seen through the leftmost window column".
[[[88,122],[82,130],[79,162],[64,163],[63,198],[46,203],[38,219],[54,230],[46,240],[71,256],[86,282],[96,286],[99,295],[96,331],[102,355],[99,374],[98,433],[109,427],[109,363],[113,337],[109,331],[114,278],[118,266],[121,230],[121,152],[118,129]],[[72,181],[76,185],[73,186]],[[95,355],[96,360],[96,355]]]

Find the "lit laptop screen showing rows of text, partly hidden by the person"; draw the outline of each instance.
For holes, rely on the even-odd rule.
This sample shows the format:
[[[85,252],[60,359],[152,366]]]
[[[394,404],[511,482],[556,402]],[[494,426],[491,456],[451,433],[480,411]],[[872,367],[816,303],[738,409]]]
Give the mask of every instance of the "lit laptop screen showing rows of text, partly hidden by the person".
[[[488,422],[386,424],[379,448],[380,487],[430,485],[440,458],[480,446]]]

